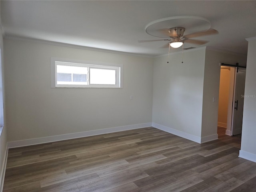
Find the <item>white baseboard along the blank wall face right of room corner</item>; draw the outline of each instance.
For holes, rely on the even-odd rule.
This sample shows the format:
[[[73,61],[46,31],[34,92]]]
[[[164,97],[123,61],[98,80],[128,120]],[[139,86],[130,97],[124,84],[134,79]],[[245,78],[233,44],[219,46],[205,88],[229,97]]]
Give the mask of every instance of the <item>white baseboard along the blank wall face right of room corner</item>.
[[[171,133],[171,134],[174,134],[174,135],[177,135],[177,136],[180,136],[182,138],[197,142],[197,143],[201,143],[201,138],[198,136],[194,136],[194,135],[191,135],[191,134],[188,134],[188,133],[176,130],[176,129],[172,129],[170,127],[166,127],[166,126],[154,123],[154,122],[152,122],[152,127],[160,129],[160,130],[168,132],[168,133]]]

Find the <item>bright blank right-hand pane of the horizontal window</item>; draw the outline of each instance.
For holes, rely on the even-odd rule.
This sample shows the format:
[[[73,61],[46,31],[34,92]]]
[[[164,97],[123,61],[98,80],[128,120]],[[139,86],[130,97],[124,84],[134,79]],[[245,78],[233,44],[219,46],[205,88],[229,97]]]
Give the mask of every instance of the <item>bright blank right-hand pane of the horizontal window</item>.
[[[90,84],[116,84],[116,70],[90,68]]]

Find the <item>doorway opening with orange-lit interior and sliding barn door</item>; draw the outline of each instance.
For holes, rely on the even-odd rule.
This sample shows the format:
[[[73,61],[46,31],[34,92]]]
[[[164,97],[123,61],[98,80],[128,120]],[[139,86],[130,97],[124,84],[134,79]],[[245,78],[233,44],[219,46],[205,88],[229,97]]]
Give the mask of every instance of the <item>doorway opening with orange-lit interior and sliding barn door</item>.
[[[245,68],[221,66],[218,103],[218,135],[242,133]]]

